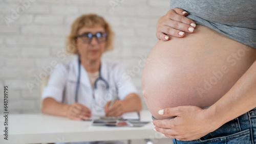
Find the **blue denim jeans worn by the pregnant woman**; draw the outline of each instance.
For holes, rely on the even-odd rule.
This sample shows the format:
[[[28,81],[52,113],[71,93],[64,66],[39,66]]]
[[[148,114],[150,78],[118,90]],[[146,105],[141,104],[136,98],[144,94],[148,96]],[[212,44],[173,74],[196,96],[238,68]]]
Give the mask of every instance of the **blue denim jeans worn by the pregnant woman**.
[[[173,138],[174,144],[191,143],[256,143],[256,108],[234,118],[219,129],[197,140],[181,141]]]

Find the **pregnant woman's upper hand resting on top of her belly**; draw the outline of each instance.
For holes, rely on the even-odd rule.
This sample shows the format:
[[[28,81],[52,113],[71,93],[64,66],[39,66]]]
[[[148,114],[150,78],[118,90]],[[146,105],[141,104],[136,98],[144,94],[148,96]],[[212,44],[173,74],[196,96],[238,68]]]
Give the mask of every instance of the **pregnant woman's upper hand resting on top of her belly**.
[[[184,32],[193,33],[196,23],[186,18],[187,12],[180,8],[169,10],[157,21],[156,36],[159,40],[169,40],[170,36],[183,37]]]

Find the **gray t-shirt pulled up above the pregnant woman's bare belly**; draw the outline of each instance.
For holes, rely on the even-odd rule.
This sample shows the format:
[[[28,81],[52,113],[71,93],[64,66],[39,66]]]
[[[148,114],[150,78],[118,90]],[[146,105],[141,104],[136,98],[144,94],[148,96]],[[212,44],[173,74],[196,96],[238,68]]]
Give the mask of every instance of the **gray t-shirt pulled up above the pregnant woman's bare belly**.
[[[211,28],[256,48],[256,0],[172,0],[170,9],[181,8],[197,25]]]

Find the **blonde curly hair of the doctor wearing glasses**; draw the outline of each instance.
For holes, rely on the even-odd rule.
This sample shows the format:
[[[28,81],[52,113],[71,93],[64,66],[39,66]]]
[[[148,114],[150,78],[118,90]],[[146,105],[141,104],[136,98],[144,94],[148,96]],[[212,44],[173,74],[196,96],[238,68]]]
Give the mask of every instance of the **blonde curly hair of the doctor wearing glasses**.
[[[76,36],[82,27],[91,28],[99,24],[102,26],[108,36],[106,37],[106,47],[104,52],[113,50],[114,43],[114,32],[112,31],[109,23],[101,16],[96,14],[84,14],[76,18],[76,20],[72,23],[71,31],[69,36],[67,37],[65,50],[69,54],[78,54],[77,46],[76,46]]]

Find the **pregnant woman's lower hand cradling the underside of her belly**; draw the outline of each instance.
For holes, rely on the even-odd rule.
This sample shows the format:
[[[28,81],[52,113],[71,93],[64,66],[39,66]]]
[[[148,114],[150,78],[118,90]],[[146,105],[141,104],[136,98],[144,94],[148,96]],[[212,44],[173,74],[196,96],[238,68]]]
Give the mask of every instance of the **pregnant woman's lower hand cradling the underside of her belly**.
[[[207,109],[197,106],[179,106],[159,110],[164,116],[176,116],[173,119],[155,120],[155,130],[170,138],[183,141],[199,139],[209,132],[218,129],[214,118],[209,116]]]

